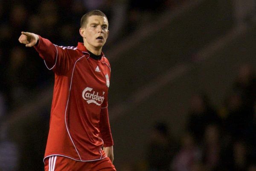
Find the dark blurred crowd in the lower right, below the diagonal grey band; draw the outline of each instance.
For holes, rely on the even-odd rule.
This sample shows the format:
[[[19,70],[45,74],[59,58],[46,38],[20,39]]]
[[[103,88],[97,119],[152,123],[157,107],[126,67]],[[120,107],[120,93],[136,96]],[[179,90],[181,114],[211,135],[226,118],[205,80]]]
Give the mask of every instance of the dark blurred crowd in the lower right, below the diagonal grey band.
[[[253,67],[240,67],[222,106],[214,107],[209,99],[205,93],[192,96],[180,142],[174,141],[166,123],[154,125],[145,171],[256,171]]]

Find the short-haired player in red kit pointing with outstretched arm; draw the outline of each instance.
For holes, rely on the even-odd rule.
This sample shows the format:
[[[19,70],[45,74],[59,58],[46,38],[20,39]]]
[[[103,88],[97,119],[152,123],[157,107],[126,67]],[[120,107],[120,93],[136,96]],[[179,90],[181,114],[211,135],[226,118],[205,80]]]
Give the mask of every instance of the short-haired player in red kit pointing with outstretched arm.
[[[106,15],[88,12],[79,32],[84,43],[76,47],[57,46],[29,32],[19,38],[55,72],[45,171],[116,171],[108,120],[111,68],[102,53],[109,33]]]

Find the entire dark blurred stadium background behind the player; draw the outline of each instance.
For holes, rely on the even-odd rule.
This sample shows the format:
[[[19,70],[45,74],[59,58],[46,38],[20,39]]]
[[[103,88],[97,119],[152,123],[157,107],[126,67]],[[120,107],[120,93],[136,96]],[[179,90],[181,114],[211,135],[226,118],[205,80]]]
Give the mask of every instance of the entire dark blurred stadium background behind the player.
[[[76,46],[93,9],[117,171],[256,171],[255,0],[0,0],[0,171],[44,171],[54,74],[20,32]]]

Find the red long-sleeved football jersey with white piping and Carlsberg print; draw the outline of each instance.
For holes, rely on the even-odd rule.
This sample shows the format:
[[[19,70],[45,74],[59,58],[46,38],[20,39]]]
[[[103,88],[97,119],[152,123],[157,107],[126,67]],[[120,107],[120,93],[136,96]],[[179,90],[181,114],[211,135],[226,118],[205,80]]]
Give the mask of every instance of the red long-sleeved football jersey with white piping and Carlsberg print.
[[[108,59],[103,53],[100,60],[90,58],[83,43],[57,46],[40,37],[34,47],[55,72],[44,159],[52,155],[79,161],[105,158],[103,144],[113,145],[108,121]]]

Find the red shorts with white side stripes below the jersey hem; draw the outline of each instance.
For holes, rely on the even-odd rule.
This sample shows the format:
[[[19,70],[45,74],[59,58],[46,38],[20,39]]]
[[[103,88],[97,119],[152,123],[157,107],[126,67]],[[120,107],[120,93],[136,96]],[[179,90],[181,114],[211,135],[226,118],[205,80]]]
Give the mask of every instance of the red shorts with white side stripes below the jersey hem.
[[[68,157],[50,156],[45,159],[45,171],[116,171],[111,160],[106,157],[92,162],[80,162]]]

